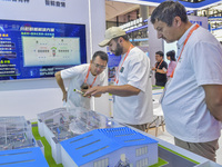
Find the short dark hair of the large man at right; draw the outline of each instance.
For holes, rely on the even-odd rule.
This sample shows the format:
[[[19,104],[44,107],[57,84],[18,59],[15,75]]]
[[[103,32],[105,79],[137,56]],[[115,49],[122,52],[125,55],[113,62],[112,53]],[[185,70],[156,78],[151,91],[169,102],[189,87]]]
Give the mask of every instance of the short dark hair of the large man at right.
[[[155,21],[162,21],[171,27],[175,17],[180,17],[183,22],[188,22],[185,7],[180,2],[164,1],[153,10],[151,22],[155,23]]]

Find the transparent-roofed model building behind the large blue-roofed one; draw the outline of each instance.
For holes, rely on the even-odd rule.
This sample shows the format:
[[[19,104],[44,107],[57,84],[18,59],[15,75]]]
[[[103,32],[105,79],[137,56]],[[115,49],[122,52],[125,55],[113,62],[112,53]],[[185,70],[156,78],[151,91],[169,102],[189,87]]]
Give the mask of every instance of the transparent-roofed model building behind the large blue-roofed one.
[[[117,121],[92,110],[75,108],[57,108],[38,115],[40,136],[44,136],[52,148],[52,157],[57,164],[61,159],[60,143],[85,134],[93,129],[122,127]]]

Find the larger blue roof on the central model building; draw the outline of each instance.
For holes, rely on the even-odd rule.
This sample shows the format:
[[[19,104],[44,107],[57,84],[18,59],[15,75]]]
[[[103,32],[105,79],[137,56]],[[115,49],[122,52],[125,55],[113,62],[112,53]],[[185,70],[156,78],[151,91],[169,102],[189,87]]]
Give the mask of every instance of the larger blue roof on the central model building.
[[[158,143],[128,127],[95,129],[61,141],[61,146],[78,165],[84,165],[123,147]]]

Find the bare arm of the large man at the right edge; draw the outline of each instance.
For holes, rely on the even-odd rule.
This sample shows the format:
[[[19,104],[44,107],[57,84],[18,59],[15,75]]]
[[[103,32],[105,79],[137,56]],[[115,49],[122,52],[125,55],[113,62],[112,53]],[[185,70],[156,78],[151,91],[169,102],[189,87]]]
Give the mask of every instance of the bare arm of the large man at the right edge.
[[[222,85],[205,85],[205,102],[212,116],[222,121]]]

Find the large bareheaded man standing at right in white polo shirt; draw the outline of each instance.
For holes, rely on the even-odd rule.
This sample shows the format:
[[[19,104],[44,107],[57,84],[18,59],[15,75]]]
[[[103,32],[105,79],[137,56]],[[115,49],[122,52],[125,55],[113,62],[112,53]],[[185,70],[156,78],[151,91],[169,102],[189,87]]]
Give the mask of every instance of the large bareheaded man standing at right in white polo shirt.
[[[176,146],[215,160],[222,121],[222,47],[188,20],[180,2],[164,1],[151,22],[168,43],[178,41],[178,63],[162,99],[167,130]]]

